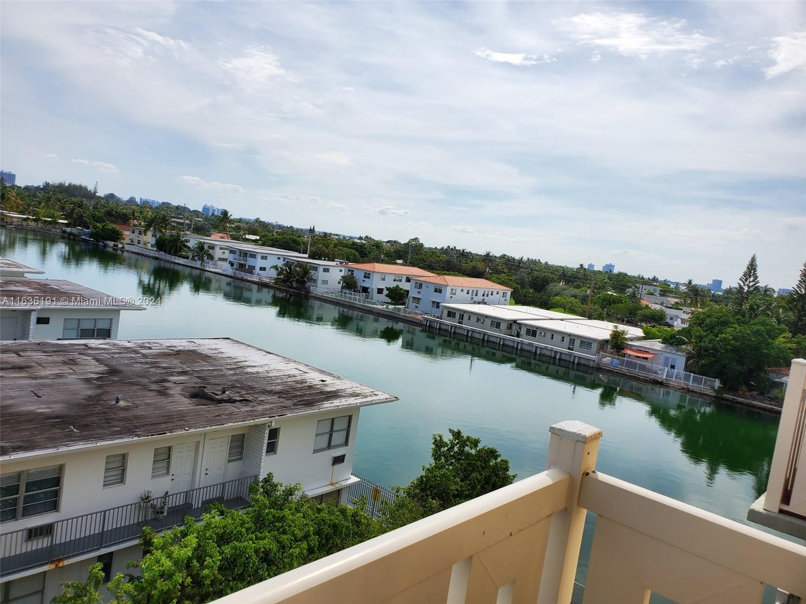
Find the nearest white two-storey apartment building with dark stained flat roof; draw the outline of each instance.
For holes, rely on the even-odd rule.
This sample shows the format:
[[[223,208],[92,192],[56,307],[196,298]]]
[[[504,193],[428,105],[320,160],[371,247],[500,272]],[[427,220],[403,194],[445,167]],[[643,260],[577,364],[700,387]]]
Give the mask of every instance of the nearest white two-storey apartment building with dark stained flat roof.
[[[345,501],[360,408],[395,399],[229,338],[18,341],[0,358],[4,602],[50,602],[96,561],[125,571],[143,526],[243,507],[269,472]]]

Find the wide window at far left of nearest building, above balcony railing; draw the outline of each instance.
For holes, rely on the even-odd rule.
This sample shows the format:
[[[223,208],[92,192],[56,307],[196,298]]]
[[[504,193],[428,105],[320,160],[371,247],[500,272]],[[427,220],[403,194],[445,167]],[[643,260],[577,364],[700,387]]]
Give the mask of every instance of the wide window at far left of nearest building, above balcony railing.
[[[48,465],[0,476],[0,520],[57,511],[61,474],[61,465]]]

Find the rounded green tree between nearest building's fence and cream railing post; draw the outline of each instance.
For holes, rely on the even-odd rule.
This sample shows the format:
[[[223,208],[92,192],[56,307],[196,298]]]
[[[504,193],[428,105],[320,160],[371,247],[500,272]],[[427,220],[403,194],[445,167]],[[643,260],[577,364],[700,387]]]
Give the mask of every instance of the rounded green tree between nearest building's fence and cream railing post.
[[[493,447],[482,447],[481,439],[451,428],[450,439],[434,434],[431,463],[409,486],[398,490],[397,499],[385,506],[387,528],[401,527],[415,519],[446,510],[512,484],[509,460]]]

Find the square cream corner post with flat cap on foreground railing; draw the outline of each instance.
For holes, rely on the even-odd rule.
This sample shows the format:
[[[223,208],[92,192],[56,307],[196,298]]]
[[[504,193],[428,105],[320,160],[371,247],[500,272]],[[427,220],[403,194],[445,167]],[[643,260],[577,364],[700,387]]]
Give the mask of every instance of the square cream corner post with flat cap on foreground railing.
[[[546,469],[571,474],[566,508],[551,519],[546,561],[540,581],[538,604],[569,604],[580,558],[586,510],[577,505],[582,477],[596,466],[602,431],[581,421],[567,420],[549,428],[551,433]]]

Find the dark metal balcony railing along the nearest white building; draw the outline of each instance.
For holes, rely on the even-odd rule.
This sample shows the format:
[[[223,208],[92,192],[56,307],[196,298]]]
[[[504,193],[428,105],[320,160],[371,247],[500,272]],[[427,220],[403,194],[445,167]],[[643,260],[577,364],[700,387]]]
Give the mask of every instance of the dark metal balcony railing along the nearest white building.
[[[183,523],[186,516],[199,519],[211,503],[231,510],[244,507],[250,499],[249,485],[256,480],[257,476],[237,478],[51,523],[43,517],[43,523],[16,531],[6,532],[0,525],[0,577],[137,540],[143,527],[162,531]],[[164,512],[155,511],[152,502],[154,507],[164,506]]]

